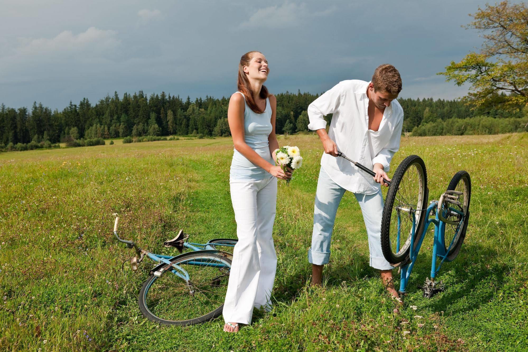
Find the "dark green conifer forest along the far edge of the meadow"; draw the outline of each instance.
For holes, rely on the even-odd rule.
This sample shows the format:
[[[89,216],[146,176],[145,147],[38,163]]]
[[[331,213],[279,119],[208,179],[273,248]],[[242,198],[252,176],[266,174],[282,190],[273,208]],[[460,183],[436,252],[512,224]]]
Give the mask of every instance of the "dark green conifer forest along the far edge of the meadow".
[[[279,93],[277,96],[277,133],[308,130],[308,105],[319,95],[307,92]],[[432,98],[398,99],[404,111],[403,132],[414,127],[448,118],[464,119],[487,115],[521,117],[520,109],[505,111],[472,109],[458,100]],[[0,105],[0,147],[13,143],[68,142],[80,138],[118,138],[167,135],[229,136],[227,109],[229,98],[206,96],[205,99],[152,94],[143,91],[119,97],[107,95],[92,105],[87,98],[62,110],[51,110],[42,103],[11,108]],[[331,119],[331,115],[326,118]]]

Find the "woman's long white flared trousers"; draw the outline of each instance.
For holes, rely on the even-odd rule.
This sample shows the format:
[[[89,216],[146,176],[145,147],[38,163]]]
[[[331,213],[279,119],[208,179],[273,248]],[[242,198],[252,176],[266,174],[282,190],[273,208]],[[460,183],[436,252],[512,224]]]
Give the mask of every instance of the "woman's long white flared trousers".
[[[253,307],[271,308],[277,255],[271,233],[277,203],[277,178],[230,180],[237,221],[237,245],[225,295],[225,322],[251,323]]]

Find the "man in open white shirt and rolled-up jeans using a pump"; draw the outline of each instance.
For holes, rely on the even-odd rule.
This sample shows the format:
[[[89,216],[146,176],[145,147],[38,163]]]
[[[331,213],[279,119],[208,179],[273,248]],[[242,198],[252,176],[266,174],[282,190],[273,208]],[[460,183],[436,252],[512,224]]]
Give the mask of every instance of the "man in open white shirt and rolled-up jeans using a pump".
[[[381,251],[381,186],[390,181],[386,172],[400,147],[403,110],[395,100],[402,88],[400,73],[390,64],[374,71],[372,81],[347,80],[337,84],[308,106],[308,128],[317,131],[325,153],[315,197],[314,229],[308,261],[312,284],[320,285],[323,265],[330,257],[330,239],[337,207],[345,190],[354,193],[361,206],[369,237],[370,265],[381,271],[381,279],[393,298],[400,301],[392,283],[392,266]],[[326,133],[324,115],[333,114]],[[372,177],[337,152],[372,169]],[[401,301],[400,301],[401,302]]]

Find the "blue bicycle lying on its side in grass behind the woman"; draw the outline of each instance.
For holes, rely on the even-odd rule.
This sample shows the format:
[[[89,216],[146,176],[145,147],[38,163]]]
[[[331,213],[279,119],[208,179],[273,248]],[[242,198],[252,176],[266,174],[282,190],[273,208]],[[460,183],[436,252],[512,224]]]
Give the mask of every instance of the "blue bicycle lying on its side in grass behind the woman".
[[[183,230],[164,243],[182,253],[183,248],[193,252],[177,256],[155,254],[139,248],[134,242],[119,238],[114,224],[114,235],[139,256],[130,260],[136,271],[145,257],[159,263],[139,291],[139,309],[148,319],[164,325],[193,325],[211,320],[222,314],[225,292],[229,281],[232,253],[219,248],[232,249],[235,239],[216,238],[208,243],[186,242]]]

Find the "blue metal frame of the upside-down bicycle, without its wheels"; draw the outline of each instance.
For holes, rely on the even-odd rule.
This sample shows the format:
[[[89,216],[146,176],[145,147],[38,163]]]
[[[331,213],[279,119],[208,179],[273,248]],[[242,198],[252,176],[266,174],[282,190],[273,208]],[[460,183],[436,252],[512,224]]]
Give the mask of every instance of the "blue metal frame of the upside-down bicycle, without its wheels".
[[[425,219],[425,223],[423,224],[423,231],[420,237],[417,238],[418,243],[416,244],[416,247],[414,245],[414,234],[418,226],[417,224],[414,224],[414,223],[412,225],[410,257],[409,257],[410,263],[401,267],[400,290],[399,290],[400,293],[407,293],[406,288],[409,282],[409,277],[411,276],[414,263],[416,262],[418,258],[418,253],[420,252],[420,247],[422,246],[423,239],[425,238],[429,225],[431,225],[431,223],[435,225],[435,235],[434,235],[434,241],[433,241],[433,246],[432,246],[432,261],[431,261],[431,281],[434,281],[436,274],[438,273],[438,271],[440,270],[440,267],[442,266],[442,263],[444,263],[444,261],[447,258],[447,254],[449,253],[451,246],[453,245],[453,242],[455,238],[457,237],[458,231],[460,231],[461,229],[460,224],[462,224],[463,221],[465,221],[464,214],[458,211],[457,209],[453,209],[451,207],[449,207],[448,209],[444,209],[444,207],[442,206],[442,212],[454,211],[457,214],[462,216],[462,219],[460,220],[460,223],[458,224],[458,227],[456,229],[455,236],[453,236],[453,239],[451,240],[451,243],[449,244],[449,247],[447,248],[447,251],[446,251],[446,246],[444,242],[444,231],[446,229],[446,223],[440,220],[440,218],[444,218],[444,217],[439,217],[439,215],[441,214],[439,214],[439,211],[437,210],[437,208],[438,208],[438,201],[433,200],[430,203],[429,207],[427,208],[426,214],[431,214],[431,212],[434,212],[435,217],[432,218],[432,217],[429,217],[428,215],[428,217]],[[399,214],[398,214],[398,224],[400,224]],[[400,238],[399,229],[398,229],[397,236],[398,236],[397,238],[399,239]],[[441,258],[441,261],[438,267],[437,267],[437,257]]]

